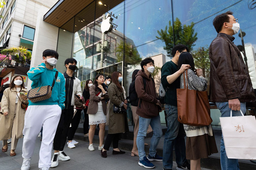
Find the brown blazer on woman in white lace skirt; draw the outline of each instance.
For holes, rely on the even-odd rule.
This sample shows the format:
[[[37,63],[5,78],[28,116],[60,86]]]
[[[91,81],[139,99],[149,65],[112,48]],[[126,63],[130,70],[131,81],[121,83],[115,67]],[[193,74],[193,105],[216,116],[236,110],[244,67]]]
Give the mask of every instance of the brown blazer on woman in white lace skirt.
[[[105,89],[105,91],[107,91]],[[98,111],[98,102],[102,102],[103,112],[106,115],[107,114],[107,105],[106,105],[106,99],[108,99],[108,93],[101,95],[100,97],[104,97],[103,100],[100,100],[99,96],[96,96],[99,91],[95,90],[95,85],[92,85],[90,87],[90,102],[88,105],[87,114],[96,114]]]

